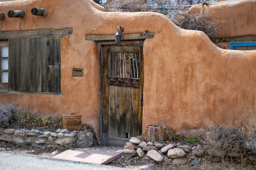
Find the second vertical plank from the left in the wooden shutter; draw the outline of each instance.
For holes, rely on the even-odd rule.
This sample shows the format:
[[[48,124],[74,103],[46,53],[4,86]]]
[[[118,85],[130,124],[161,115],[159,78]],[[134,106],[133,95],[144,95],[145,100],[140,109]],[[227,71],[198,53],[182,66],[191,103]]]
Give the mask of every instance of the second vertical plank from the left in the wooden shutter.
[[[14,51],[14,91],[19,91],[20,85],[20,38],[15,39],[15,51]]]

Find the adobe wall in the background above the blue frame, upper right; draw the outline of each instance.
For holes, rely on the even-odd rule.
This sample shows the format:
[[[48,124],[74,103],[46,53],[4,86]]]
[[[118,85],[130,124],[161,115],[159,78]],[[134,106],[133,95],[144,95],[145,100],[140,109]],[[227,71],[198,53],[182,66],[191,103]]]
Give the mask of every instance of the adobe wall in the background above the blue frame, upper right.
[[[204,8],[200,3],[189,9],[190,14],[200,14],[202,11],[221,21],[216,37],[256,35],[256,0],[209,3]]]

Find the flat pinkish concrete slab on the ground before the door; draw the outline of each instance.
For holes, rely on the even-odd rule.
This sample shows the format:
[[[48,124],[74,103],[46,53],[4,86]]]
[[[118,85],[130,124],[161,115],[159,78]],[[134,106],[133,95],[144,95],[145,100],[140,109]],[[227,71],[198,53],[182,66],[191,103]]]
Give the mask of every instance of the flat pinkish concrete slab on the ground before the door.
[[[71,161],[81,161],[94,164],[108,164],[109,162],[119,158],[121,152],[105,152],[100,150],[66,150],[53,158],[66,159]]]

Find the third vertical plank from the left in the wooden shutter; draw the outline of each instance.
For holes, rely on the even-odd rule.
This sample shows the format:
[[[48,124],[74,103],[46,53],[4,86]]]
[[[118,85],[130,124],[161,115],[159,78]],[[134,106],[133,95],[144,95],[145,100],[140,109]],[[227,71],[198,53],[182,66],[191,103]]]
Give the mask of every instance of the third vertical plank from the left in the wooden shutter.
[[[30,80],[31,80],[31,52],[30,52],[30,38],[25,38],[25,91],[30,91]]]

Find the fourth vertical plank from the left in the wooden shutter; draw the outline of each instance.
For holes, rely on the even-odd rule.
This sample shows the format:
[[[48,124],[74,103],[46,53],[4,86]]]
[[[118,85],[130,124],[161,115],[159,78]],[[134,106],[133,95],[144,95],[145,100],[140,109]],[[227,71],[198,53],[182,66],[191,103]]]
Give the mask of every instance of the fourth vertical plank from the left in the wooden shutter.
[[[30,91],[36,91],[36,38],[30,38]]]

